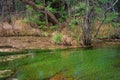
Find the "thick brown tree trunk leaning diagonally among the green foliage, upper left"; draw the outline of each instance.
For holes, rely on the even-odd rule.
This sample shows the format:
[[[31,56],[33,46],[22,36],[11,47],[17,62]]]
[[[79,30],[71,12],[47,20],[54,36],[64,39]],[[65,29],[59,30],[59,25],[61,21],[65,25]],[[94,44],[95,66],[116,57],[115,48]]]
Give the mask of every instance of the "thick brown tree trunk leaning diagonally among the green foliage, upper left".
[[[59,24],[59,21],[57,20],[57,18],[49,10],[47,10],[45,7],[43,7],[43,6],[38,7],[38,6],[35,5],[34,2],[29,1],[29,0],[20,0],[20,1],[22,1],[23,3],[31,6],[36,11],[41,11],[42,13],[46,12],[50,22],[52,22],[54,25]]]

